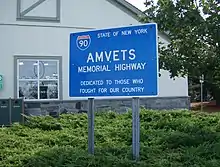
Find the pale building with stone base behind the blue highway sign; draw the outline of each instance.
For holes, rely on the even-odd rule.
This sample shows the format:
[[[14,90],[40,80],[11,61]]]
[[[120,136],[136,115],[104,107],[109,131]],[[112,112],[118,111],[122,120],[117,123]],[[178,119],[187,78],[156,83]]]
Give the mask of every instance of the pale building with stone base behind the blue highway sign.
[[[140,24],[139,15],[143,13],[124,0],[1,0],[0,98],[25,97],[27,104],[40,102],[41,106],[85,100],[70,98],[68,93],[70,33]],[[162,32],[159,40],[169,42]],[[105,100],[97,105],[113,103]],[[130,104],[124,100],[117,103]],[[172,80],[162,71],[159,97],[143,99],[142,104],[188,108],[187,78]]]

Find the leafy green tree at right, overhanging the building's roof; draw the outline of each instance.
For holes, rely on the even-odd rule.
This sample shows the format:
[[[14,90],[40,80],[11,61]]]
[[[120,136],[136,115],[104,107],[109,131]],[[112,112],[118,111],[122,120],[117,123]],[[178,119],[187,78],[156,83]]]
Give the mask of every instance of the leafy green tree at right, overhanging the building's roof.
[[[153,20],[166,32],[170,44],[160,45],[160,68],[171,78],[188,76],[198,82],[205,76],[206,87],[220,99],[220,1],[147,1],[143,22]]]

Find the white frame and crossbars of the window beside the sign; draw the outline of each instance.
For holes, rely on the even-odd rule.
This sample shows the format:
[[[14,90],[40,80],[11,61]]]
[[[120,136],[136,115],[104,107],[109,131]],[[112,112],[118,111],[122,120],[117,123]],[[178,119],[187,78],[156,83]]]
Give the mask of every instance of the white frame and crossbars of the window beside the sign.
[[[20,74],[19,74],[19,62],[20,61],[36,61],[36,62],[38,62],[37,63],[37,73],[38,73],[38,78],[36,78],[36,79],[20,79]],[[40,61],[46,61],[46,62],[56,62],[57,63],[57,79],[40,79],[39,77],[40,77],[40,75],[39,75],[39,73],[40,73]],[[58,101],[58,100],[61,100],[61,91],[62,91],[62,89],[61,89],[61,82],[60,82],[60,79],[61,79],[61,70],[60,70],[60,68],[61,68],[61,66],[60,66],[60,64],[62,63],[62,61],[59,59],[59,58],[39,58],[39,57],[28,57],[28,58],[25,58],[25,57],[18,57],[18,58],[16,58],[16,85],[17,85],[17,87],[16,87],[16,92],[15,92],[15,96],[16,96],[16,98],[19,98],[19,82],[20,81],[36,81],[37,82],[37,96],[38,96],[38,98],[37,99],[24,99],[25,101]],[[40,81],[57,81],[57,90],[58,90],[58,98],[56,98],[56,99],[54,99],[54,98],[52,98],[52,99],[40,99]]]

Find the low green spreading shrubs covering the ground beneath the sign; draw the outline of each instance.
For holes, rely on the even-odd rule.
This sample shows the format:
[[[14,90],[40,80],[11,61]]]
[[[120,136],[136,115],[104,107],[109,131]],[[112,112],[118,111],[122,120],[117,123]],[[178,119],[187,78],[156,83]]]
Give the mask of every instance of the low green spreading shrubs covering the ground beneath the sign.
[[[132,114],[97,113],[95,155],[88,155],[86,114],[28,117],[0,129],[2,167],[217,167],[220,115],[140,112],[140,161],[132,160]]]

